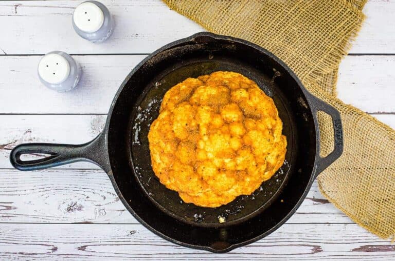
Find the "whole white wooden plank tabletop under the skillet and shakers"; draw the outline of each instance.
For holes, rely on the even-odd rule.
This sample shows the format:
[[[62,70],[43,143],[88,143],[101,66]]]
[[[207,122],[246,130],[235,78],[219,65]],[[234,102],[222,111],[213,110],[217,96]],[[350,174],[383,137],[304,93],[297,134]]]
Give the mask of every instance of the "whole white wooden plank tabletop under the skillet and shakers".
[[[0,3],[0,259],[26,260],[394,260],[395,245],[357,226],[314,183],[276,232],[227,254],[187,249],[140,225],[104,171],[88,163],[20,172],[10,149],[25,142],[79,144],[103,128],[129,71],[155,49],[203,29],[160,1],[101,0],[112,38],[80,38],[71,13],[81,1]],[[368,18],[339,70],[338,96],[395,128],[395,1],[367,3]],[[62,50],[82,65],[78,88],[40,84],[40,56]]]

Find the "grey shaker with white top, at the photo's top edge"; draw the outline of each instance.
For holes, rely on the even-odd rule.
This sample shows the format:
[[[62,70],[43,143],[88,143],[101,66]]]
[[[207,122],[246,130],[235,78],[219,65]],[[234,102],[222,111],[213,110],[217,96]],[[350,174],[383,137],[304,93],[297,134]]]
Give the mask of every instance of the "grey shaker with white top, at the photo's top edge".
[[[74,10],[74,30],[93,43],[101,43],[109,38],[113,25],[109,9],[97,1],[86,1]]]

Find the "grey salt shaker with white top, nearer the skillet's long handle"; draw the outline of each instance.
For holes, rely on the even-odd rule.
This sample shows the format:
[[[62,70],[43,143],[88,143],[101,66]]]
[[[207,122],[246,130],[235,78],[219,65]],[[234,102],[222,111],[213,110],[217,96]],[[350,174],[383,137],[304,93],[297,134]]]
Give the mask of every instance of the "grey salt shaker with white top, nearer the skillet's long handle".
[[[65,52],[45,54],[38,66],[40,81],[49,89],[59,92],[75,88],[81,78],[81,68],[73,57]]]

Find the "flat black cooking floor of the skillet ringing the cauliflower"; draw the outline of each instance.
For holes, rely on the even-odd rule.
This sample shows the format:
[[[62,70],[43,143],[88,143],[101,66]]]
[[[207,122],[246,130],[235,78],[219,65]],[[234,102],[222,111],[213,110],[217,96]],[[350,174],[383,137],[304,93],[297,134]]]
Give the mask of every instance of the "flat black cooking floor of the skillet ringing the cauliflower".
[[[151,168],[147,135],[151,123],[159,114],[160,104],[167,90],[188,77],[197,77],[214,71],[242,73],[253,79],[266,94],[274,99],[283,121],[283,134],[288,137],[288,147],[284,165],[270,180],[262,183],[252,195],[239,196],[231,203],[218,208],[203,208],[184,203],[177,192],[160,184]],[[132,140],[130,144],[131,158],[138,181],[154,204],[183,222],[214,227],[242,222],[270,205],[286,182],[286,177],[293,166],[293,151],[297,150],[296,144],[294,144],[297,132],[293,131],[295,120],[289,113],[289,104],[286,103],[284,94],[273,81],[275,76],[275,72],[272,72],[272,75],[262,75],[259,69],[249,64],[242,64],[238,59],[211,55],[184,59],[182,64],[175,65],[153,77],[132,111]],[[219,217],[225,218],[227,224],[220,224]]]

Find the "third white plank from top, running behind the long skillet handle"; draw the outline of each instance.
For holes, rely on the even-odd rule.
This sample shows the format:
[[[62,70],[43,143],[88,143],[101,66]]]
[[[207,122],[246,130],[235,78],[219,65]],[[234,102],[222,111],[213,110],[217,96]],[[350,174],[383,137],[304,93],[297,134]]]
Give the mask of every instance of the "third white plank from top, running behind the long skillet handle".
[[[395,114],[373,116],[395,129]],[[9,154],[16,145],[32,142],[82,144],[100,133],[105,119],[106,115],[0,115],[0,169],[12,169]],[[31,155],[30,158],[37,159],[39,156]],[[57,168],[99,167],[91,163],[74,163]]]

